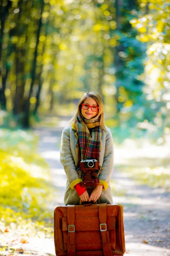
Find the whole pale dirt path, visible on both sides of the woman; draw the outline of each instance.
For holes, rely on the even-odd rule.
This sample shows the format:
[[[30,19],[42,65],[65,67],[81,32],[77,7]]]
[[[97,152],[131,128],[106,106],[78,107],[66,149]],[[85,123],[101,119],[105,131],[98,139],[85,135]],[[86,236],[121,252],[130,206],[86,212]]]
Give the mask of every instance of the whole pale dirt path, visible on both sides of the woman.
[[[39,129],[38,151],[49,163],[56,187],[56,200],[51,209],[63,205],[66,176],[59,163],[59,146],[65,125],[67,122],[62,121],[59,128]],[[161,188],[137,186],[116,166],[113,179],[118,190],[125,190],[123,196],[113,195],[113,200],[124,206],[127,253],[130,256],[170,256],[170,193],[164,193]],[[52,246],[51,253],[55,255],[53,241],[49,245]]]

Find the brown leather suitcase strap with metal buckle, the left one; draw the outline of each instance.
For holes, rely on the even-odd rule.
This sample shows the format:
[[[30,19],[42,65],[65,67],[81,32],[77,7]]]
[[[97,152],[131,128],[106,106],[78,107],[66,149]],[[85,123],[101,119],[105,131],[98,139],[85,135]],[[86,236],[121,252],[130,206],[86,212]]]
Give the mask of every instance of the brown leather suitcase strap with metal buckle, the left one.
[[[75,256],[76,251],[76,236],[75,236],[75,205],[67,206],[67,221],[68,221],[68,245],[67,255]]]

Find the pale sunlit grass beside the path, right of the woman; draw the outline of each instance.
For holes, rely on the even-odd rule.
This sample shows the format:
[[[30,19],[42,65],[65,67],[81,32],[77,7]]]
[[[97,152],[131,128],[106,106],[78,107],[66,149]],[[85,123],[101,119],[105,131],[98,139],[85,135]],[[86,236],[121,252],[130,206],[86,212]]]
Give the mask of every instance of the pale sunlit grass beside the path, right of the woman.
[[[139,184],[170,192],[170,143],[156,145],[145,138],[126,139],[115,145],[115,165]]]

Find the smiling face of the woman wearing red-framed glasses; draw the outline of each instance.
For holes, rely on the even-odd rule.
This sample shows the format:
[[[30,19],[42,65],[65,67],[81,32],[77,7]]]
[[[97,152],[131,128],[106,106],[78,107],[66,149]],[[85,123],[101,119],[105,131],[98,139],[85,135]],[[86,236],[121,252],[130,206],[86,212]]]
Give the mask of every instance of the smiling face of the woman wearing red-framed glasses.
[[[91,97],[88,97],[87,99],[85,99],[83,103],[88,104],[90,106],[98,106],[96,100]],[[82,112],[82,116],[84,116],[85,119],[91,119],[97,116],[97,114],[99,113],[99,109],[96,112],[94,112],[91,110],[91,108],[85,110],[81,106],[81,112]]]

